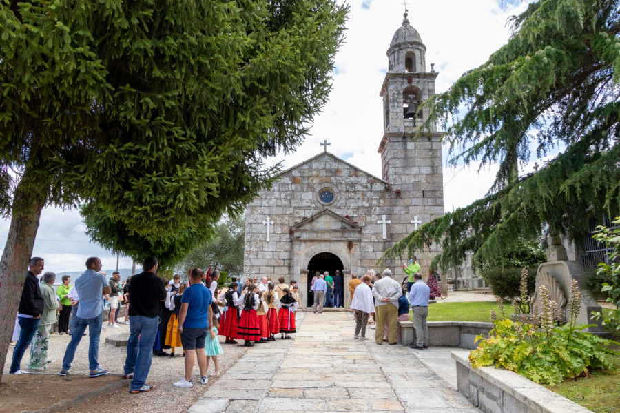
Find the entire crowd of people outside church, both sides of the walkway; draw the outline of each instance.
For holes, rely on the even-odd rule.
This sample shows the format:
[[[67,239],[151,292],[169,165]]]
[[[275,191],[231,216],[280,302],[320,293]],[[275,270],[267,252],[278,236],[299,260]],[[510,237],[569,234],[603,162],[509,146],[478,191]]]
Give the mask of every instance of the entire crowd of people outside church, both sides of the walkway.
[[[60,376],[70,373],[76,349],[89,330],[88,363],[89,376],[98,377],[109,371],[99,364],[99,339],[102,328],[118,328],[117,316],[120,305],[125,305],[125,324],[130,326],[127,354],[123,374],[131,379],[131,393],[148,392],[153,386],[146,383],[152,356],[174,356],[175,349],[182,347],[185,357],[185,376],[173,383],[174,387],[192,387],[192,369],[198,363],[200,383],[207,383],[207,367],[214,362],[215,374],[219,374],[218,355],[223,354],[218,336],[225,344],[244,341],[247,347],[255,343],[291,339],[296,333],[295,313],[300,303],[296,281],[285,283],[280,276],[278,284],[262,277],[260,282],[248,278],[245,283],[232,282],[221,294],[218,287],[219,272],[211,273],[200,268],[189,270],[188,283],[180,283],[180,276],[161,279],[156,275],[158,262],[153,256],[143,260],[143,272],[121,283],[120,274],[114,272],[106,279],[101,272],[101,260],[86,260],[86,270],[70,285],[70,276],[62,277],[62,284],[54,291],[54,272],[45,272],[41,257],[30,260],[19,308],[17,325],[19,339],[12,355],[9,374],[24,374],[45,370],[48,364],[47,350],[50,331],[58,323],[59,334],[70,334],[65,350]],[[382,276],[369,270],[358,279],[352,274],[349,281],[351,311],[355,316],[354,339],[366,339],[366,326],[375,329],[375,341],[381,345],[397,342],[400,334],[397,322],[413,313],[417,341],[414,349],[428,348],[428,301],[441,296],[437,286],[438,274],[429,276],[428,285],[422,281],[420,265],[415,257],[408,267],[402,283],[392,279],[391,270]],[[322,312],[324,305],[339,306],[344,301],[343,277],[340,271],[334,276],[324,272],[311,281],[313,312]],[[433,281],[435,281],[433,285]],[[436,287],[436,288],[435,288]],[[107,326],[103,324],[105,305],[109,305]],[[220,310],[220,308],[223,308]],[[58,316],[56,317],[56,312]],[[369,321],[370,319],[370,321]],[[28,368],[21,370],[25,350],[31,346]],[[164,350],[171,349],[170,353]]]

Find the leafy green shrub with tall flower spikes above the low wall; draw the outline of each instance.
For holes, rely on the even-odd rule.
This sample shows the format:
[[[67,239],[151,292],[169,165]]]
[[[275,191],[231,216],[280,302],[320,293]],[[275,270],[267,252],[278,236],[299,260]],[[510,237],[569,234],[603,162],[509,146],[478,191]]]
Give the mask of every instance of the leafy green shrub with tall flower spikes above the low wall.
[[[524,268],[521,275],[521,301],[527,290]],[[542,286],[541,314],[533,309],[531,318],[519,312],[516,319],[506,319],[502,300],[497,305],[502,311],[503,319],[498,319],[492,312],[493,330],[476,337],[480,345],[469,356],[472,367],[495,365],[504,367],[525,376],[536,383],[555,384],[588,372],[590,368],[610,369],[610,354],[616,354],[605,347],[614,341],[601,339],[593,334],[583,332],[587,326],[575,325],[579,314],[581,293],[577,281],[572,281],[569,308],[570,322],[558,326],[555,323],[555,304],[551,301],[549,291]],[[517,310],[519,311],[519,310]],[[618,344],[618,343],[616,343]]]

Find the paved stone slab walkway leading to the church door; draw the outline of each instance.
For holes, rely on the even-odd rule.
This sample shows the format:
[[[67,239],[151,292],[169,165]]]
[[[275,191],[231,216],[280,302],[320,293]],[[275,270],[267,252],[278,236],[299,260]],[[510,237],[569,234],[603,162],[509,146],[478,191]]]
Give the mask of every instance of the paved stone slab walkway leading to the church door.
[[[446,350],[418,358],[400,344],[377,345],[370,329],[369,340],[353,340],[349,313],[297,319],[294,340],[251,347],[189,412],[479,413],[446,381],[452,381]],[[440,374],[443,366],[445,375],[421,359]]]

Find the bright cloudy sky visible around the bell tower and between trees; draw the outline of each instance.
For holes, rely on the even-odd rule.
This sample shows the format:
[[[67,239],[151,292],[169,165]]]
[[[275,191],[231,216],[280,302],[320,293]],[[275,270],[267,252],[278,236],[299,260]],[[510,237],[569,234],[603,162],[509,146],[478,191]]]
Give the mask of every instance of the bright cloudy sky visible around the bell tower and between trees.
[[[506,22],[527,3],[520,0],[408,0],[409,21],[426,45],[426,70],[435,63],[439,72],[436,92],[447,90],[464,72],[484,63],[510,37]],[[337,157],[381,175],[377,150],[383,135],[382,98],[379,96],[388,59],[386,50],[401,26],[402,0],[351,0],[345,43],[335,57],[329,102],[315,117],[304,143],[292,154],[267,159],[290,168],[322,152],[324,140]],[[444,148],[444,205],[446,211],[483,197],[493,183],[496,168],[478,171],[478,164],[446,167]],[[533,169],[534,159],[521,172]],[[540,160],[538,160],[540,163]],[[4,248],[9,221],[0,220],[0,248]],[[56,274],[85,269],[88,256],[99,256],[103,269],[116,268],[116,256],[90,243],[77,210],[45,208],[34,243],[34,256],[45,259],[45,270]],[[121,256],[119,268],[131,268]],[[139,268],[139,265],[138,265]]]

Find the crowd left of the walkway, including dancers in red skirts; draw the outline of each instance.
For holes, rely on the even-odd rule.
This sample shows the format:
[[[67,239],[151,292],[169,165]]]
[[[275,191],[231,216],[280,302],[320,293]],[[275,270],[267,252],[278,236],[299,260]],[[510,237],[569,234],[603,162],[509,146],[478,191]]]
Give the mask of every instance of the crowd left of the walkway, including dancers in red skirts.
[[[85,272],[74,285],[70,285],[70,276],[63,276],[63,283],[54,290],[56,274],[45,272],[39,281],[45,261],[41,257],[30,260],[19,301],[17,343],[9,374],[47,368],[49,337],[55,323],[59,334],[71,337],[60,376],[70,374],[76,349],[87,328],[89,376],[109,374],[99,364],[99,341],[102,328],[118,328],[119,305],[125,305],[125,324],[130,326],[123,374],[125,379],[132,380],[131,393],[154,388],[146,383],[153,355],[174,356],[175,349],[182,347],[185,375],[172,385],[192,387],[194,363],[198,363],[201,384],[208,381],[206,372],[211,360],[215,374],[219,374],[218,355],[223,354],[223,348],[218,336],[225,336],[225,343],[234,344],[239,339],[246,346],[253,346],[275,341],[277,334],[291,339],[290,334],[296,332],[298,287],[295,281],[287,285],[284,277],[278,279],[278,285],[267,277],[260,283],[256,278],[247,279],[245,285],[234,282],[225,294],[220,294],[219,272],[193,268],[189,270],[187,284],[180,283],[178,274],[168,281],[156,275],[158,262],[153,256],[147,256],[143,272],[129,277],[124,285],[118,272],[106,279],[99,258],[91,257],[85,265]],[[103,320],[105,305],[110,308],[107,326]],[[21,361],[28,347],[30,361],[22,370]]]

